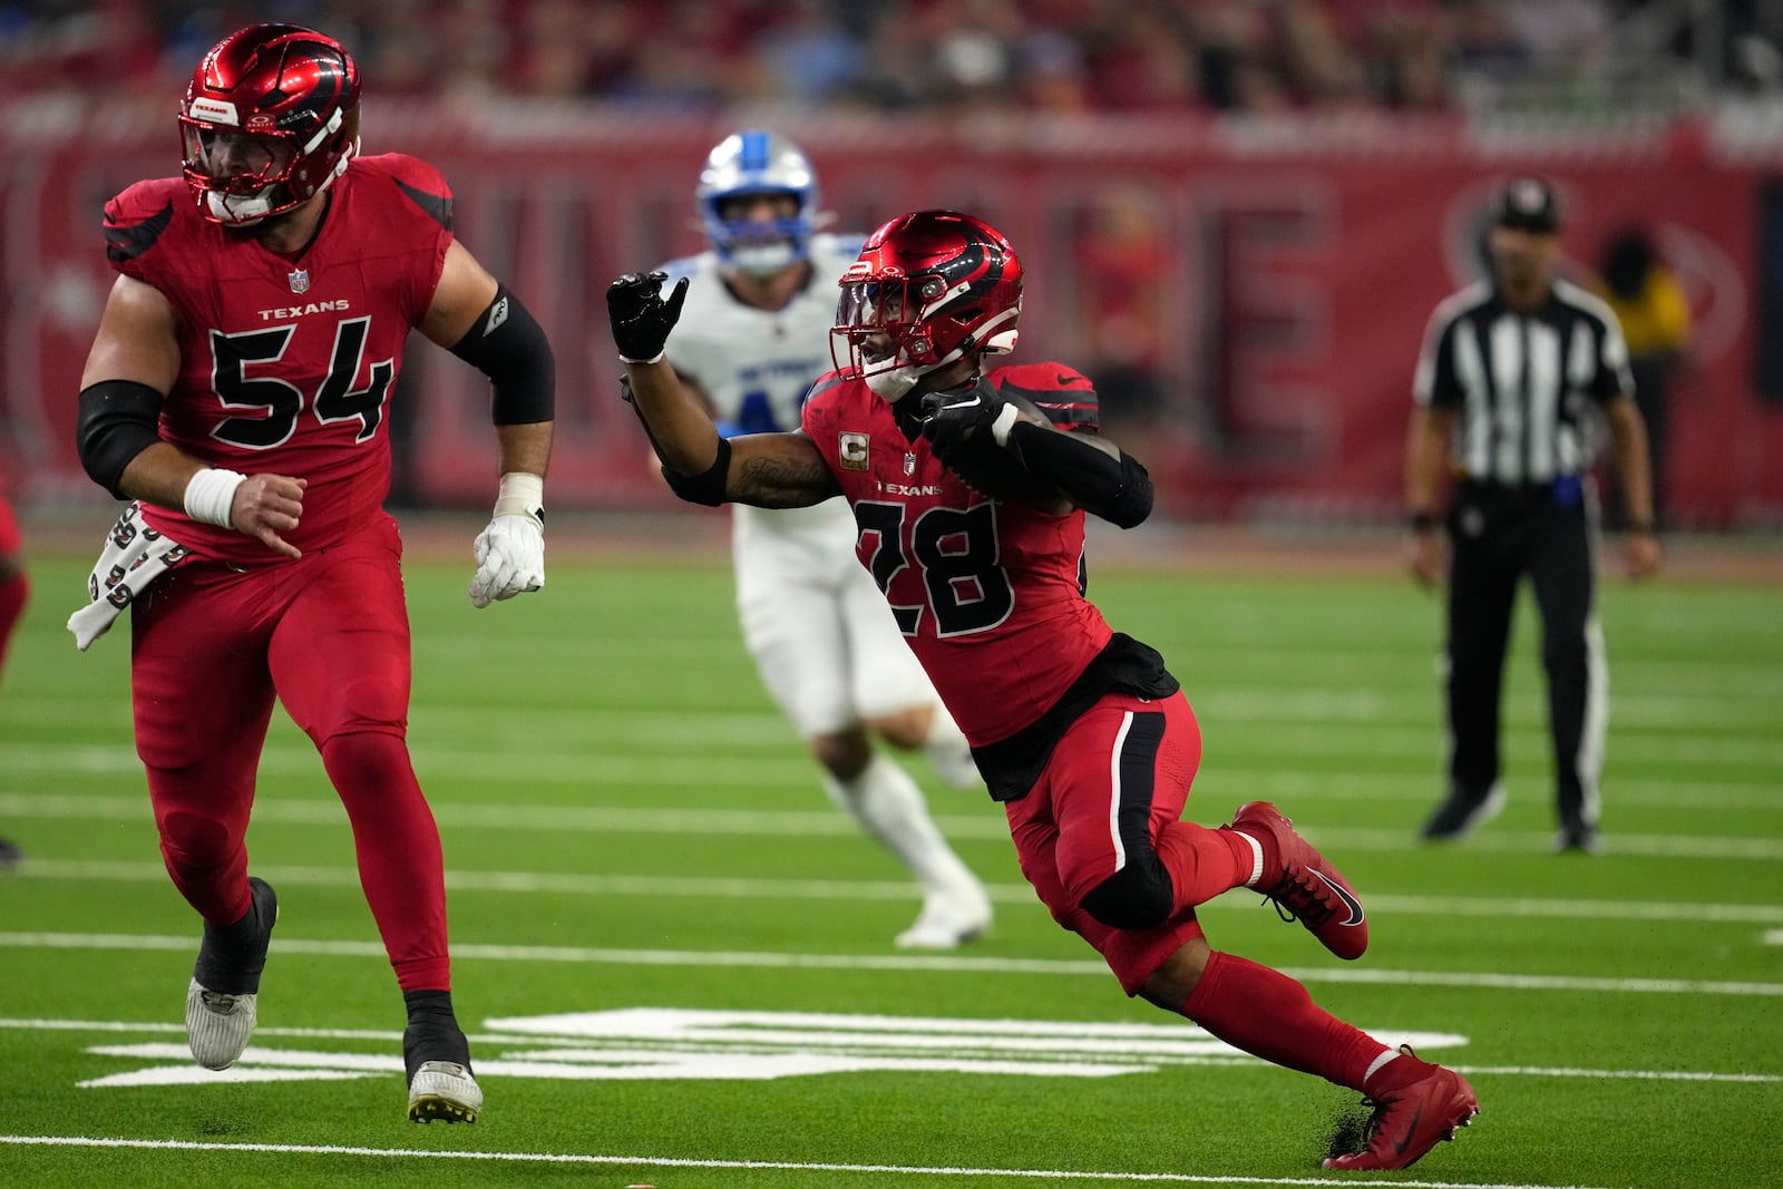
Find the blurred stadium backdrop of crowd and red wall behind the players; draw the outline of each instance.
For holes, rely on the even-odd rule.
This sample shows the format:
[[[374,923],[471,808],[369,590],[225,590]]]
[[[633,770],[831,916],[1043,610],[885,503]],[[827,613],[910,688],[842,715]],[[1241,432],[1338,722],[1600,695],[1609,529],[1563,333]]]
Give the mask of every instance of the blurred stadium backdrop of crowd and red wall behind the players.
[[[111,273],[105,196],[177,169],[221,32],[348,43],[364,148],[444,169],[458,230],[549,330],[555,508],[669,508],[615,399],[601,291],[701,246],[727,130],[818,164],[834,226],[986,216],[1034,283],[1023,358],[1084,367],[1196,521],[1389,524],[1432,305],[1510,171],[1565,194],[1567,267],[1647,228],[1696,316],[1672,521],[1783,522],[1783,12],[1630,0],[1275,4],[0,5],[0,465],[21,510],[102,504],[73,394]],[[162,30],[162,32],[155,32]],[[426,344],[394,399],[398,503],[487,499],[481,378]]]

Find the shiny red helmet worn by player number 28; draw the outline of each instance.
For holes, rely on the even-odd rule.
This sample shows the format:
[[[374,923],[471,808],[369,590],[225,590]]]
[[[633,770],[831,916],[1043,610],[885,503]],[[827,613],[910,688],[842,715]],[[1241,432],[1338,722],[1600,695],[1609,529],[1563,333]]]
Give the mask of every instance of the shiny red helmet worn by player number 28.
[[[840,283],[829,340],[836,369],[888,401],[957,358],[1015,349],[1022,262],[982,219],[899,216],[867,237]]]

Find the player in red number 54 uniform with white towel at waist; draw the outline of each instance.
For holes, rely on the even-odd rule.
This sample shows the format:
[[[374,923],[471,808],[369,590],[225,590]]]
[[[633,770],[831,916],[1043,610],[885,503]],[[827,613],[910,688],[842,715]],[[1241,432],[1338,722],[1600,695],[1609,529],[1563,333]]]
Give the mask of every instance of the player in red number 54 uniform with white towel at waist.
[[[474,1121],[451,1009],[439,831],[410,767],[387,401],[410,330],[489,374],[499,492],[471,603],[544,585],[555,365],[538,323],[453,239],[451,191],[358,153],[358,70],[330,37],[253,25],[200,62],[184,176],[105,207],[119,273],[82,376],[78,447],[134,501],[70,620],[132,611],[132,701],[160,852],[203,916],[193,1055],[226,1068],[257,1014],[276,898],[242,836],[275,697],[346,806],[408,1005],[415,1121]]]

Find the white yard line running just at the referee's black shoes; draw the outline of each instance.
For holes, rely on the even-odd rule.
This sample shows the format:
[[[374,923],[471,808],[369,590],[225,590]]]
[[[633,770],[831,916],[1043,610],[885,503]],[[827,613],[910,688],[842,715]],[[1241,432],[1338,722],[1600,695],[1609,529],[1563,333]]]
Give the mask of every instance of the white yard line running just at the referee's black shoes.
[[[654,763],[654,761],[653,761]],[[738,761],[697,761],[715,772],[736,775]],[[464,775],[464,774],[460,774]],[[612,775],[612,774],[608,774]],[[514,774],[503,777],[514,783]],[[683,783],[690,783],[688,781]],[[711,783],[727,783],[717,777]],[[257,824],[325,825],[346,829],[346,811],[339,800],[310,797],[303,800],[266,799],[253,809]],[[854,822],[829,809],[631,809],[610,806],[510,806],[510,804],[437,804],[435,820],[444,827],[480,831],[544,831],[597,834],[678,834],[678,836],[772,836],[840,838],[859,832]],[[73,797],[59,793],[0,793],[0,818],[73,818],[148,822],[146,797]],[[941,832],[954,840],[1006,840],[1009,831],[990,811],[975,816],[943,815]],[[1414,847],[1412,829],[1369,829],[1316,825],[1307,836],[1334,850],[1405,852]],[[1475,854],[1548,852],[1551,832],[1482,831],[1467,840]],[[1694,834],[1615,834],[1605,836],[1608,856],[1646,856],[1671,859],[1751,859],[1783,861],[1783,838],[1726,838]]]

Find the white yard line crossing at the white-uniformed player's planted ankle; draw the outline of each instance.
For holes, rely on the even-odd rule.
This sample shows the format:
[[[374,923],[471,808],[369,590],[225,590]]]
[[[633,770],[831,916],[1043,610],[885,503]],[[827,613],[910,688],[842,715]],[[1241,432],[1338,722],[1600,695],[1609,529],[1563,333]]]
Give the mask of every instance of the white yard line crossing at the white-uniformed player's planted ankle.
[[[275,886],[303,888],[358,888],[358,868],[353,866],[257,866],[257,873]],[[162,884],[168,868],[152,861],[102,859],[37,859],[11,872],[9,879],[43,879],[66,882],[123,882]],[[890,900],[916,898],[915,884],[872,879],[751,879],[699,875],[578,875],[553,872],[465,872],[448,870],[446,886],[453,891],[487,893],[553,893],[588,897],[692,897],[699,900]],[[1000,904],[1038,904],[1027,884],[991,884],[991,900]],[[1364,900],[1373,913],[1400,916],[1473,916],[1507,920],[1635,920],[1635,922],[1692,922],[1722,925],[1783,925],[1783,904],[1690,904],[1678,900],[1562,900],[1562,898],[1498,898],[1498,897],[1405,897],[1369,895]],[[1205,907],[1253,909],[1257,897],[1250,891],[1232,891]],[[1765,934],[1769,945],[1783,945],[1783,929]]]

